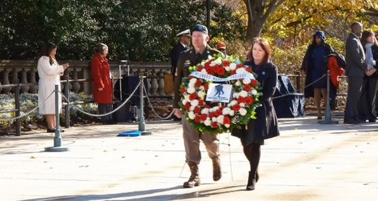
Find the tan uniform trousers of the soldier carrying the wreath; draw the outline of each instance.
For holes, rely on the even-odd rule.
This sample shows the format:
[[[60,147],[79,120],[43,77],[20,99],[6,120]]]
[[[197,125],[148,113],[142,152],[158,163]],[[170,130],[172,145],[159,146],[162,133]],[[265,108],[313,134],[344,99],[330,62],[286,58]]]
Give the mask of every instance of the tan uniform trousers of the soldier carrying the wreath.
[[[219,157],[220,153],[218,135],[209,133],[202,134],[199,130],[195,129],[189,122],[187,122],[185,117],[182,117],[181,123],[185,145],[186,163],[188,163],[189,161],[195,162],[197,164],[200,163],[200,139],[204,142],[210,158]]]

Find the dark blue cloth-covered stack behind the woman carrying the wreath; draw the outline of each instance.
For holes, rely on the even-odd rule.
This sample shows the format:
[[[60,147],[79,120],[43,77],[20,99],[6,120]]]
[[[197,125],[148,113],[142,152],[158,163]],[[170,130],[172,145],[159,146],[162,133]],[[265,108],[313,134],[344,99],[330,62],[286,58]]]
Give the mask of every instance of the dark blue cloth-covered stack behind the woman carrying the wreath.
[[[290,95],[278,97],[284,94]],[[295,118],[304,115],[304,95],[303,93],[295,93],[287,75],[278,76],[277,88],[273,95],[273,105],[278,118]]]

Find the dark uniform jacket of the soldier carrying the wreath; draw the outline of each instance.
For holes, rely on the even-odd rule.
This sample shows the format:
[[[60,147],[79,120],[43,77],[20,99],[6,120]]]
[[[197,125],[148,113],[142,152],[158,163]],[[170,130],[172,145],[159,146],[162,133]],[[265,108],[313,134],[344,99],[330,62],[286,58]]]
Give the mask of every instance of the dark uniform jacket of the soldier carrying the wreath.
[[[180,85],[181,85],[181,79],[183,77],[189,76],[189,67],[195,66],[199,63],[201,63],[202,60],[207,60],[209,55],[213,56],[215,54],[221,53],[218,50],[212,49],[209,47],[209,45],[206,46],[204,52],[201,54],[197,53],[194,49],[183,51],[177,62],[177,75],[174,78],[174,101],[173,101],[173,107],[174,108],[180,108],[178,103],[180,101],[181,91],[180,91]]]

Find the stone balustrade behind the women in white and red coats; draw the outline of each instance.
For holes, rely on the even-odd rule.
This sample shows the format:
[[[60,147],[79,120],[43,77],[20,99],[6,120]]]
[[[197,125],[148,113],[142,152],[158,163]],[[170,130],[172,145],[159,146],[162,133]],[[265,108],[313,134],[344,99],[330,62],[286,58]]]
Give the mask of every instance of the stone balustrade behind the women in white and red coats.
[[[65,79],[65,75],[69,75],[72,80],[91,79],[90,61],[58,61],[59,63],[70,63],[70,67],[65,71],[61,79]],[[164,93],[164,73],[170,70],[168,63],[154,63],[154,62],[130,62],[127,63],[118,61],[110,61],[110,68],[113,77],[118,78],[119,75],[144,75],[147,76],[147,90],[149,96],[155,101],[166,100],[171,98],[171,95]],[[0,60],[0,85],[20,83],[37,83],[37,61],[24,60]],[[62,90],[65,85],[61,85]],[[69,88],[74,92],[85,92],[91,94],[92,83],[86,81],[70,82]],[[0,88],[0,93],[15,92],[15,87]],[[38,85],[22,86],[20,92],[37,93]]]

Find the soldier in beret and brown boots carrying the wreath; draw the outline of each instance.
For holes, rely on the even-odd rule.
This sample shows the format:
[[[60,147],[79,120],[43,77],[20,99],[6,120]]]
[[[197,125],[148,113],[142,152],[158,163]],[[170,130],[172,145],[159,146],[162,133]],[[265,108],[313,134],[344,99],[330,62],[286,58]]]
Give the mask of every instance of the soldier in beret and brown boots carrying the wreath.
[[[201,63],[202,60],[207,60],[209,56],[219,54],[218,50],[212,49],[207,42],[210,37],[208,35],[207,27],[203,25],[196,25],[191,30],[193,49],[182,52],[177,62],[177,72],[174,79],[174,115],[181,118],[181,110],[178,103],[180,100],[180,85],[181,78],[189,76],[189,67]],[[198,164],[201,161],[200,139],[204,142],[208,151],[209,157],[213,161],[213,180],[217,181],[221,178],[221,167],[219,158],[219,140],[218,135],[201,133],[187,122],[185,117],[181,120],[183,139],[185,146],[185,161],[191,169],[191,176],[188,181],[184,182],[184,187],[194,187],[201,184]]]

